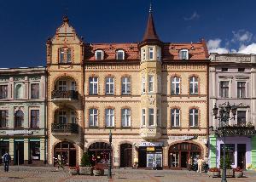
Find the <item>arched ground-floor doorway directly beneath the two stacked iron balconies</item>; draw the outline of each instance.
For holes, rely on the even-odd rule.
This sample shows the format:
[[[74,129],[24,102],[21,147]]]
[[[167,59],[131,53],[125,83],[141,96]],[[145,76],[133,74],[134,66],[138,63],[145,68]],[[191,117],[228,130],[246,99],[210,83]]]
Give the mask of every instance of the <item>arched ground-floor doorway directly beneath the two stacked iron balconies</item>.
[[[61,155],[61,162],[63,165],[71,167],[76,166],[77,150],[72,143],[63,141],[56,144],[54,157],[57,158],[58,155]]]

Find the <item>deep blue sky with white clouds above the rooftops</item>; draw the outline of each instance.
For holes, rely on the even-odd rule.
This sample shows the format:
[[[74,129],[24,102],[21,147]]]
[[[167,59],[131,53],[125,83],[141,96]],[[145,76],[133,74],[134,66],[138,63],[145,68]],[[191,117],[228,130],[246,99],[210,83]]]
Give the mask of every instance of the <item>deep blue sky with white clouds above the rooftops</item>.
[[[0,67],[45,65],[45,42],[70,23],[85,43],[139,42],[149,0],[9,0],[0,3]],[[256,1],[153,0],[154,23],[163,42],[204,37],[212,52],[256,53]]]

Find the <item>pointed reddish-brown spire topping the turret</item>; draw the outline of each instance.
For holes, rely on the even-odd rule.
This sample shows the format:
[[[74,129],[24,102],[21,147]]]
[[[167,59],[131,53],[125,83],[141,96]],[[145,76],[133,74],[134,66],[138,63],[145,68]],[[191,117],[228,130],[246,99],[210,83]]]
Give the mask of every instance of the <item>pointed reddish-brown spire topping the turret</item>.
[[[146,28],[145,33],[144,33],[143,41],[147,41],[147,40],[160,41],[159,37],[158,37],[158,35],[155,31],[155,28],[154,28],[154,20],[153,20],[152,11],[153,11],[152,10],[152,3],[150,2],[149,15],[148,15],[148,25],[147,25],[147,28]]]

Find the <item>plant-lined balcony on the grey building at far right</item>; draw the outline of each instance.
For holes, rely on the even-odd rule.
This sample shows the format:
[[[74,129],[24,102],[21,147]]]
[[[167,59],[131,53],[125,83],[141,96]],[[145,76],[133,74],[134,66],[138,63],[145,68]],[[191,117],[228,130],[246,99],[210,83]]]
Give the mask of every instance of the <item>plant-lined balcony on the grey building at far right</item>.
[[[247,125],[233,125],[217,128],[215,134],[218,136],[254,136],[256,134],[255,127],[248,123]]]

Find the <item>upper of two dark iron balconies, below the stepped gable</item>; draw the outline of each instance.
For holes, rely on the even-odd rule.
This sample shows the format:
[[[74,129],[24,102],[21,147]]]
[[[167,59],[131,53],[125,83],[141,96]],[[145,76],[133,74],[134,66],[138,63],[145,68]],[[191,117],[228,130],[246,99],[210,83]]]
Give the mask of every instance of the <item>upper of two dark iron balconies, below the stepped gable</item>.
[[[79,92],[75,90],[54,90],[51,93],[51,99],[53,101],[78,100]]]

